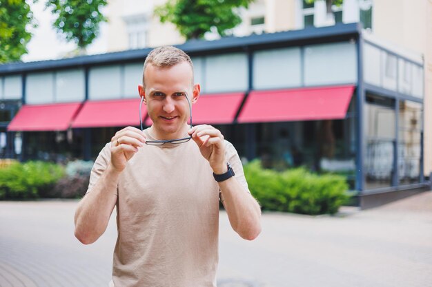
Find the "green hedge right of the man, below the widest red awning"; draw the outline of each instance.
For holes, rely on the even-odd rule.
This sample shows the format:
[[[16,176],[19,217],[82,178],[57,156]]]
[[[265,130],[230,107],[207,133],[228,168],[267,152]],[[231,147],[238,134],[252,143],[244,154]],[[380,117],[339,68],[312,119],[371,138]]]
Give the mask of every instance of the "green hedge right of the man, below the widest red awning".
[[[246,164],[244,173],[263,210],[334,214],[349,198],[343,176],[320,176],[304,168],[278,172],[263,169],[259,160]]]

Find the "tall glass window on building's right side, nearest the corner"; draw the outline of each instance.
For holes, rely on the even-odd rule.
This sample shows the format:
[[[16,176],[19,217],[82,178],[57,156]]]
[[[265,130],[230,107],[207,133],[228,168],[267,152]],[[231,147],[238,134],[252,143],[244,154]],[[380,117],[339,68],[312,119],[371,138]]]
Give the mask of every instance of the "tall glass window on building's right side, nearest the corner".
[[[395,103],[368,94],[364,105],[366,189],[391,187],[395,151]]]

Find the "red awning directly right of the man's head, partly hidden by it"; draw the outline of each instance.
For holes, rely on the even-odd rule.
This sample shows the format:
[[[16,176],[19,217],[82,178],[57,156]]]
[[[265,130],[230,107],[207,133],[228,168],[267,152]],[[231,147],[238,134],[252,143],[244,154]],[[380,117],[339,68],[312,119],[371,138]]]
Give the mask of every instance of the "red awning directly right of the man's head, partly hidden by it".
[[[192,121],[198,124],[230,124],[242,103],[244,93],[202,94],[192,106]],[[146,125],[152,125],[147,118]]]

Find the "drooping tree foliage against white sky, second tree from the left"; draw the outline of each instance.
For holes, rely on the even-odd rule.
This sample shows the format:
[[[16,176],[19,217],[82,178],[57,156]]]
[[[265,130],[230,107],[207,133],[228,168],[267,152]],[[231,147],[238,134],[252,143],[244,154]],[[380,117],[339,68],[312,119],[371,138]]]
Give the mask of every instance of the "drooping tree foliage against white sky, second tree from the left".
[[[99,24],[107,21],[101,13],[106,4],[106,0],[48,0],[46,6],[56,17],[52,26],[57,32],[85,49],[99,34]]]

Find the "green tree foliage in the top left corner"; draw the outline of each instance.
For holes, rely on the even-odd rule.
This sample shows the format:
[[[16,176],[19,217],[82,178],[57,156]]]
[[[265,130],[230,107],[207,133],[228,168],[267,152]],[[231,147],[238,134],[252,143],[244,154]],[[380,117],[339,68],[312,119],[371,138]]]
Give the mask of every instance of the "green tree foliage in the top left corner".
[[[19,61],[27,54],[31,27],[36,23],[25,0],[0,0],[0,63]]]

